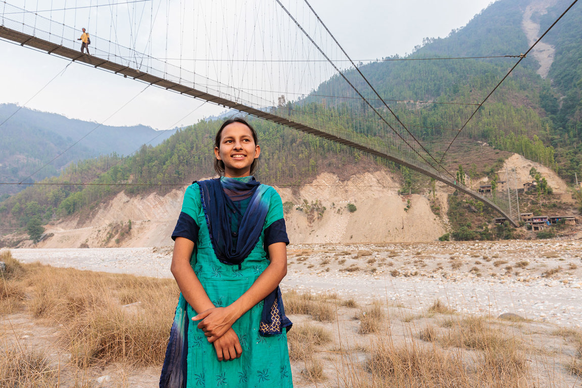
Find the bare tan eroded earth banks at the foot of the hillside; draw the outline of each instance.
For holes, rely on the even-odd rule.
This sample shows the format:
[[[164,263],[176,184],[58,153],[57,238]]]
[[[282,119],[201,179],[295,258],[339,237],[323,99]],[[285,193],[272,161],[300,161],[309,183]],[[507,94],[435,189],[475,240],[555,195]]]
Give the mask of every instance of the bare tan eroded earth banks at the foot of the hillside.
[[[566,184],[552,170],[540,163],[514,154],[498,172],[515,169],[512,188],[531,181],[529,171],[535,167],[548,180],[555,195],[573,203]],[[513,172],[511,173],[513,175]],[[446,233],[448,220],[432,213],[427,195],[399,195],[399,176],[389,170],[365,172],[340,180],[332,173],[322,173],[312,183],[292,190],[277,187],[287,203],[285,220],[290,240],[310,243],[398,243],[435,241]],[[476,189],[478,184],[474,183]],[[170,239],[180,213],[186,187],[164,196],[128,197],[125,193],[101,204],[90,216],[68,219],[47,225],[50,236],[37,248],[77,247],[157,247],[171,245]],[[437,185],[437,201],[446,214],[448,186]],[[409,202],[410,201],[410,202]],[[292,204],[292,206],[289,206]],[[348,204],[356,211],[350,212]],[[325,208],[325,209],[324,209]],[[129,230],[128,221],[131,220]],[[125,229],[124,229],[125,228]],[[125,232],[123,232],[125,230]],[[31,246],[25,243],[21,247]]]

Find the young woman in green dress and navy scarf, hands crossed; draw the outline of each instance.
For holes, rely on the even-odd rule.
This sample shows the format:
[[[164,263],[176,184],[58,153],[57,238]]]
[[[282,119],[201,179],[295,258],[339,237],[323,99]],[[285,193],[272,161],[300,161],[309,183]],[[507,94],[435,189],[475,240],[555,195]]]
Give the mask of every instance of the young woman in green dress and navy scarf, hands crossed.
[[[292,387],[281,197],[251,175],[261,148],[243,119],[222,124],[214,154],[221,178],[186,189],[172,233],[182,292],[159,386]]]

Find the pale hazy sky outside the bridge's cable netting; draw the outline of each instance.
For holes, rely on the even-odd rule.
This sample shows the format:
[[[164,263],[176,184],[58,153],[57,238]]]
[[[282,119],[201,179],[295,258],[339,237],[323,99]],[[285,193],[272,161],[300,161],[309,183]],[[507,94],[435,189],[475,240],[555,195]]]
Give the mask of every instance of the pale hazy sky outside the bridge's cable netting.
[[[352,59],[367,60],[411,52],[424,37],[445,37],[452,29],[467,24],[490,2],[311,0],[310,3],[347,54]],[[54,1],[38,0],[38,9],[51,8],[51,3]],[[191,124],[225,110],[208,103],[201,106],[201,101],[155,87],[134,98],[145,87],[143,83],[79,63],[71,63],[41,90],[68,63],[0,40],[0,103],[26,104],[27,108],[108,125],[145,124],[155,129]],[[194,111],[198,106],[201,107]]]

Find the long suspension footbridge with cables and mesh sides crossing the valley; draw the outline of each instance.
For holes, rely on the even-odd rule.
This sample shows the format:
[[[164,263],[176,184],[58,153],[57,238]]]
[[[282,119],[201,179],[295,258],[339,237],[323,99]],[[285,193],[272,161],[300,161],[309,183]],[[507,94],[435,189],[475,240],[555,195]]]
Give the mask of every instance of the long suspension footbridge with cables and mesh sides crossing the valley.
[[[130,41],[130,47],[106,38],[106,34],[100,34],[99,31],[94,33],[88,30],[92,41],[91,54],[81,54],[77,42],[79,29],[66,24],[70,19],[70,10],[69,16],[66,15],[66,9],[50,10],[51,15],[62,14],[62,20],[55,20],[40,15],[42,12],[38,9],[25,9],[8,2],[0,3],[0,38],[151,86],[235,109],[398,163],[484,202],[517,226],[517,191],[508,188],[507,193],[489,197],[457,180],[453,173],[443,167],[446,151],[441,152],[439,157],[427,145],[421,144],[386,103],[388,100],[383,99],[360,72],[307,2],[301,9],[297,9],[296,3],[284,5],[279,0],[258,3],[260,6],[254,9],[261,8],[261,16],[253,16],[249,24],[254,24],[244,34],[233,34],[233,40],[229,41],[228,33],[225,36],[215,33],[217,37],[214,42],[208,44],[207,39],[204,43],[206,51],[196,46],[196,39],[190,40],[194,47],[191,52],[202,51],[203,58],[215,58],[214,61],[182,58],[182,42],[179,58],[169,58],[168,26],[165,55],[152,54],[154,48],[151,36],[156,26],[154,15],[157,15],[154,2],[149,4],[150,30],[146,34],[139,34],[139,27],[133,26],[130,35],[135,38]],[[158,3],[158,11],[160,5],[161,2]],[[208,17],[212,12],[217,12],[212,6],[209,9],[196,9],[194,5],[192,17]],[[224,13],[228,15],[228,10]],[[113,13],[111,15],[113,17]],[[265,22],[262,29],[257,27],[258,19],[269,18],[276,23]],[[224,24],[228,25],[229,20],[225,19]],[[208,35],[212,35],[211,26],[212,23],[207,27]],[[109,27],[110,36],[112,28]],[[119,26],[115,29],[119,29]],[[294,34],[289,31],[294,31]],[[150,37],[145,43],[142,42],[141,50],[137,48],[138,35]],[[257,48],[257,42],[262,42],[261,47]],[[275,49],[265,49],[265,42],[267,47],[270,45]],[[218,48],[208,49],[212,43],[216,43]],[[237,44],[243,48],[235,49]],[[149,54],[146,54],[147,51]],[[217,52],[221,51],[227,52],[230,57],[217,58]],[[235,59],[236,56],[246,59]],[[200,62],[205,63],[206,67],[197,65]],[[297,97],[287,100],[285,96]],[[467,105],[477,105],[477,109],[481,106]]]

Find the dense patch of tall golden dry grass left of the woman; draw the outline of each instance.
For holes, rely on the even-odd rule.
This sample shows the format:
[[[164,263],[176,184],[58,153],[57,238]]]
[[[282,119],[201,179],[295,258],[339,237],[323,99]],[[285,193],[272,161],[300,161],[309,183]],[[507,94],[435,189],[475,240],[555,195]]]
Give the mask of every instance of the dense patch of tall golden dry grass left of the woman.
[[[12,293],[21,297],[26,291],[28,311],[61,326],[61,345],[73,364],[149,366],[163,361],[179,294],[172,279],[38,264],[11,266],[12,279],[3,289],[23,291]],[[26,276],[14,276],[19,272]],[[19,302],[22,305],[22,298]]]

